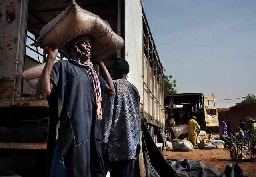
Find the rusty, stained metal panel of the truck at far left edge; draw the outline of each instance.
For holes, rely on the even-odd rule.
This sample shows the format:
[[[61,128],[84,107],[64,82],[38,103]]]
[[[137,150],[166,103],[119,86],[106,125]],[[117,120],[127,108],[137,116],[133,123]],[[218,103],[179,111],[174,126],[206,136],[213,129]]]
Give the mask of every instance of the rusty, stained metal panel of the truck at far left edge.
[[[0,101],[5,106],[14,105],[21,95],[27,8],[28,0],[5,0],[0,4]]]

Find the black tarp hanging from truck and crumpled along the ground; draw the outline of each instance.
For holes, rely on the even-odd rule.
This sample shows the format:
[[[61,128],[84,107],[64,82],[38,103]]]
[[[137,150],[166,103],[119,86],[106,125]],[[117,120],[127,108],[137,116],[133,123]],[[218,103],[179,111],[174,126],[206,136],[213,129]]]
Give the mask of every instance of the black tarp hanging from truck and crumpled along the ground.
[[[244,177],[238,163],[227,165],[225,172],[222,172],[198,160],[166,160],[156,147],[145,123],[142,123],[141,129],[146,177]]]

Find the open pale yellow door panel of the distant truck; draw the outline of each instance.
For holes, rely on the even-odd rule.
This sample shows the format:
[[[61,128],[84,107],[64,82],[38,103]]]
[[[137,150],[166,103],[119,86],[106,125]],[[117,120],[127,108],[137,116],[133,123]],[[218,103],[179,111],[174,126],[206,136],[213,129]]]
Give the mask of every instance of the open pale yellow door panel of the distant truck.
[[[203,99],[204,99],[204,118],[205,118],[206,127],[218,127],[219,119],[218,119],[218,111],[217,111],[215,97],[203,96]]]

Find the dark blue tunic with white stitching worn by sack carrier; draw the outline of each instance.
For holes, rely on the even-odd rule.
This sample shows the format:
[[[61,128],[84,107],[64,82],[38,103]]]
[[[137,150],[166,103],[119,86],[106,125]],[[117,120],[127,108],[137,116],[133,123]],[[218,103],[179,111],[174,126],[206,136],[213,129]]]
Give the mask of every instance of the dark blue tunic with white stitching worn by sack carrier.
[[[55,86],[49,103],[48,150],[52,150],[53,129],[60,120],[58,145],[66,176],[104,176],[100,153],[100,122],[96,119],[96,101],[90,72],[68,61],[56,62],[50,79]],[[99,76],[102,91],[106,81]],[[58,105],[61,107],[58,115]],[[53,152],[48,153],[48,161]],[[57,175],[57,174],[56,174]]]

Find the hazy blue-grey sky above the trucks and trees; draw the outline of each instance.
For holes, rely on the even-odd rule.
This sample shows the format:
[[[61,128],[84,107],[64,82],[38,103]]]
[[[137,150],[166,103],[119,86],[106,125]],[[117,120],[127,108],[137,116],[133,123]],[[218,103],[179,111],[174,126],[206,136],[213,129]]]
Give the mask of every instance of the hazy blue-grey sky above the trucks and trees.
[[[255,0],[142,0],[166,75],[178,93],[256,94]],[[217,101],[228,108],[243,99]]]

